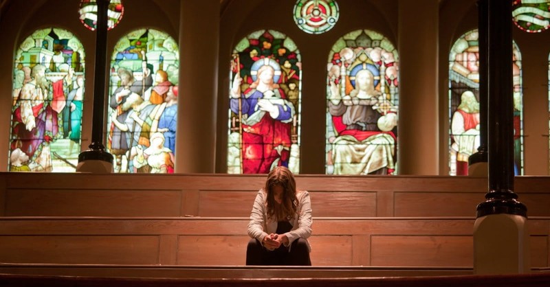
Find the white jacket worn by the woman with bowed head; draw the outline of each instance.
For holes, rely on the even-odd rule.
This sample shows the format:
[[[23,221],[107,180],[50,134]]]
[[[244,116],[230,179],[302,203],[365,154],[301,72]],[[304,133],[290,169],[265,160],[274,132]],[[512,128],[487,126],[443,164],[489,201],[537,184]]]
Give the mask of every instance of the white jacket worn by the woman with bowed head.
[[[307,248],[311,252],[311,245],[309,244],[309,236],[311,236],[311,200],[309,199],[309,193],[305,190],[298,191],[296,194],[298,198],[298,209],[294,218],[290,220],[292,230],[285,233],[288,238],[288,246],[292,245],[292,242],[298,238],[303,238],[307,242]],[[259,190],[254,200],[254,206],[252,207],[252,213],[250,214],[250,222],[248,222],[248,235],[251,238],[256,238],[260,242],[263,242],[263,238],[270,233],[277,231],[277,221],[270,219],[267,220],[267,192],[263,189]],[[290,250],[290,249],[289,249]]]

